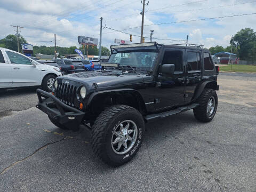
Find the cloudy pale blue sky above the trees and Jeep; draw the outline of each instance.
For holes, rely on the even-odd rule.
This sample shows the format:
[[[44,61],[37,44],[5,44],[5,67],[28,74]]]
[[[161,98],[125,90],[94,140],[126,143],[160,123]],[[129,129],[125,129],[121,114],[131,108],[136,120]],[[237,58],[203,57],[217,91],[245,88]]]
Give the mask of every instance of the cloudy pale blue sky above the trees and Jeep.
[[[19,25],[21,35],[33,45],[77,46],[78,35],[99,38],[100,17],[103,27],[123,30],[139,35],[142,4],[140,0],[0,0],[0,38],[14,34],[10,25]],[[256,13],[256,1],[252,0],[150,0],[145,6],[145,37],[154,30],[158,43],[174,44],[171,39],[184,39],[205,47],[226,47],[232,35],[242,28],[256,31],[256,14],[192,22],[180,22],[228,15]],[[157,23],[169,23],[154,25]],[[170,23],[171,22],[171,23]],[[174,23],[178,22],[178,23]],[[150,25],[150,26],[147,26]],[[133,28],[137,27],[137,28]],[[132,28],[132,29],[127,29]],[[102,45],[109,47],[114,39],[129,40],[128,34],[107,28],[102,30]],[[53,41],[53,42],[50,42]],[[140,37],[133,36],[133,43]],[[149,38],[146,38],[146,42]]]

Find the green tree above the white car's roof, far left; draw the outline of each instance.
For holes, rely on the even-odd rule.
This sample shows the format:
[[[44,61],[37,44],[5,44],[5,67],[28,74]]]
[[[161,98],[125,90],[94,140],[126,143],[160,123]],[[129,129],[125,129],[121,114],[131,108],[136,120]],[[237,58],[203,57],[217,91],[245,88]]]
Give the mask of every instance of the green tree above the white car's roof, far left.
[[[5,48],[13,50],[13,51],[18,51],[17,36],[7,35],[5,38],[1,39],[0,42],[1,42],[0,44],[4,44]],[[20,50],[21,50],[21,44],[27,43],[27,41],[25,38],[20,36],[19,43],[20,43]]]

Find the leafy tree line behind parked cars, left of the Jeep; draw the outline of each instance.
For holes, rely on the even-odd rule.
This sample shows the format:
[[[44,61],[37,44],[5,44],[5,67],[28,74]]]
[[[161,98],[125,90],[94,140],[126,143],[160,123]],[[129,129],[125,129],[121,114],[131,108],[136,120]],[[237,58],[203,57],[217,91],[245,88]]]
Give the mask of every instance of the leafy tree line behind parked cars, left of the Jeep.
[[[19,37],[19,42],[20,42],[20,50],[21,50],[21,44],[23,43],[27,43],[26,39],[23,38],[22,36]],[[0,47],[4,47],[13,51],[18,51],[18,47],[17,47],[17,36],[15,35],[7,35],[5,38],[0,39]],[[70,47],[60,47],[57,46],[56,50],[59,53],[59,55],[65,55],[65,54],[77,54],[75,52],[75,49],[77,49],[76,46],[70,46]],[[83,51],[84,54],[84,50],[82,50],[82,48],[80,48],[81,51]],[[55,47],[54,46],[45,46],[45,45],[41,45],[41,46],[33,46],[33,52],[34,54],[36,53],[42,53],[42,54],[52,54],[54,55],[54,51],[55,51]],[[85,54],[87,55],[87,49],[85,46]],[[97,46],[94,46],[92,48],[92,46],[88,47],[88,54],[89,55],[98,55],[99,54],[99,49],[97,48]],[[101,55],[110,55],[110,51],[107,47],[102,46],[101,47]]]

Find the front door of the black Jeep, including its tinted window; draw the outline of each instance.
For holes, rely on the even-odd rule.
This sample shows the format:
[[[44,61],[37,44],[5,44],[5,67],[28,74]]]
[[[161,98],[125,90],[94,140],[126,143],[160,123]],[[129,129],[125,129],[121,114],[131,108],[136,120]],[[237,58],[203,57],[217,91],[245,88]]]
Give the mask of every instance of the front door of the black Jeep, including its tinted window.
[[[173,75],[164,75],[161,73],[160,66],[155,91],[156,110],[170,109],[184,104],[184,55],[185,50],[182,49],[166,49],[164,51],[161,65],[174,64],[175,72]]]

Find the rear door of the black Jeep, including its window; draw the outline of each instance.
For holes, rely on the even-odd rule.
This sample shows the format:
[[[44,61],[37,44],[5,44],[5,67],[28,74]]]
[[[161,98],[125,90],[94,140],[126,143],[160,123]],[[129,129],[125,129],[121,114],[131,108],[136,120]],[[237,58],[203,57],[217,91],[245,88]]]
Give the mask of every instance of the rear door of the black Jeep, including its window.
[[[187,49],[186,58],[185,103],[189,103],[202,80],[202,51]]]

